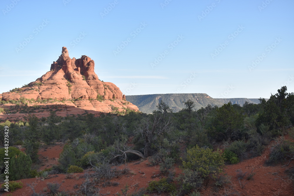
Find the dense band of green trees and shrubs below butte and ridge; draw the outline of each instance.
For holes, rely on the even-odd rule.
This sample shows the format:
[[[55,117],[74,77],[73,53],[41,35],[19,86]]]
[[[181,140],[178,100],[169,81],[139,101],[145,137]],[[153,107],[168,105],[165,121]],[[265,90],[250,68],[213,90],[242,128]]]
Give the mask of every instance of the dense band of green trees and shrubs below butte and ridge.
[[[3,130],[5,125],[9,126],[10,145],[23,144],[26,147],[25,154],[9,147],[9,155],[14,157],[11,163],[16,165],[14,180],[41,174],[81,172],[91,167],[94,172],[84,182],[88,184],[80,188],[83,187],[86,195],[94,195],[97,190],[92,185],[98,180],[110,186],[114,177],[127,172],[112,166],[148,158],[151,165],[160,167],[164,178],[150,182],[141,194],[169,192],[170,195],[185,195],[196,193],[204,182],[223,187],[228,182],[223,180],[224,164],[235,164],[261,155],[271,140],[276,141],[268,164],[293,160],[293,142],[283,137],[277,139],[288,133],[294,124],[294,94],[286,91],[284,86],[268,101],[260,99],[259,104],[246,102],[243,106],[229,102],[221,107],[208,105],[196,110],[195,103],[187,100],[183,103],[185,108],[176,113],[163,101],[152,114],[130,111],[125,115],[108,113],[95,117],[88,113],[59,117],[52,111],[48,118],[29,115],[27,122],[6,121],[0,123],[0,128]],[[294,135],[293,129],[290,134]],[[4,146],[4,137],[1,132],[1,146]],[[31,167],[37,168],[39,164],[37,152],[40,145],[56,141],[66,142],[59,165],[36,174]],[[216,143],[225,143],[227,147],[223,151],[213,150]],[[182,168],[178,177],[173,171],[175,163]],[[0,167],[0,177],[3,178],[3,164]]]

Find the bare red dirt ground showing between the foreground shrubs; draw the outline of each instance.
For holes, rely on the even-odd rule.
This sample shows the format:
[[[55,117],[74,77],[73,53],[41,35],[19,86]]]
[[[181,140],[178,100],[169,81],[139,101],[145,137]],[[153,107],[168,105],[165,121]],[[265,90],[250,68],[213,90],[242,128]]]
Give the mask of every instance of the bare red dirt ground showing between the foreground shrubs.
[[[288,139],[288,137],[286,139]],[[212,185],[206,185],[202,188],[201,195],[294,195],[294,184],[285,173],[285,169],[293,167],[294,161],[290,162],[290,164],[285,167],[282,166],[288,164],[288,161],[275,166],[266,166],[265,160],[268,158],[270,146],[271,145],[268,145],[262,156],[244,160],[238,164],[226,165],[224,173],[231,176],[231,183],[218,191],[216,191]],[[62,148],[63,145],[60,143],[41,148],[39,155],[47,157],[43,163],[44,166],[42,166],[41,169],[49,168],[53,164],[56,164]],[[119,166],[120,169],[123,169],[124,167],[127,167],[130,170],[129,174],[111,180],[111,182],[118,182],[119,185],[103,187],[103,182],[101,182],[101,184],[98,185],[100,193],[106,195],[122,193],[121,189],[123,189],[126,184],[129,186],[128,193],[132,193],[136,189],[138,190],[141,187],[147,187],[149,181],[160,179],[160,176],[157,176],[156,178],[151,177],[159,174],[160,171],[159,166],[149,166],[148,160],[139,160]],[[241,180],[241,182],[239,182],[236,176],[237,171],[239,170],[248,173],[253,171],[256,174],[251,180]],[[74,186],[81,185],[85,180],[82,176],[85,172],[86,170],[83,173],[75,173],[70,178],[67,178],[66,174],[58,174],[50,175],[49,179],[45,180],[42,180],[41,178],[17,180],[17,182],[21,181],[24,184],[23,188],[9,193],[13,196],[31,195],[32,190],[26,184],[32,183],[35,183],[36,192],[46,193],[49,192],[47,188],[48,182],[62,183],[59,190],[74,192],[77,190]],[[175,172],[178,174],[180,170],[177,168]],[[240,187],[240,183],[243,185],[243,188]],[[4,193],[2,195],[8,195],[9,193]]]

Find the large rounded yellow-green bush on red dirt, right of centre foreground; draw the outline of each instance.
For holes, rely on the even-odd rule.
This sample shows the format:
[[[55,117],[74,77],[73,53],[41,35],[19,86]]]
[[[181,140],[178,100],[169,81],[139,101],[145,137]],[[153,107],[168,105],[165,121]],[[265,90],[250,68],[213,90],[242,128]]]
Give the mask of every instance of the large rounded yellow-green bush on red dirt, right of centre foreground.
[[[206,178],[209,174],[215,178],[222,172],[224,161],[219,151],[213,152],[209,148],[199,148],[198,145],[187,150],[186,159],[183,160],[183,168],[196,171],[200,177]]]

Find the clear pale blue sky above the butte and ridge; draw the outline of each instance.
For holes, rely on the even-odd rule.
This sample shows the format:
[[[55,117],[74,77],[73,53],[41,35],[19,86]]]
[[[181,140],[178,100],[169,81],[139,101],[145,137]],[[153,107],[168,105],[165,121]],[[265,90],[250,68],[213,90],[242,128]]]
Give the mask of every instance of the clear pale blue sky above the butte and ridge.
[[[0,93],[50,70],[63,46],[126,95],[269,98],[294,91],[292,0],[3,0]]]

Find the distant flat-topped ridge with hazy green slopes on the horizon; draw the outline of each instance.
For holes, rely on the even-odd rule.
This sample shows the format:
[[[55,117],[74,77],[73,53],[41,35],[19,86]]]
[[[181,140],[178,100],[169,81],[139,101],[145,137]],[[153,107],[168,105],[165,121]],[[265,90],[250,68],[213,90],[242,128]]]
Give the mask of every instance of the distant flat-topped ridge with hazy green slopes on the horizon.
[[[136,105],[140,111],[144,113],[152,113],[157,110],[156,106],[163,100],[173,112],[178,112],[185,108],[183,102],[191,99],[195,102],[196,110],[201,107],[206,107],[208,104],[212,106],[222,106],[224,103],[231,102],[232,104],[243,105],[246,101],[248,103],[258,104],[259,100],[256,98],[212,98],[206,93],[171,93],[171,94],[152,94],[152,95],[128,95],[126,100]]]

